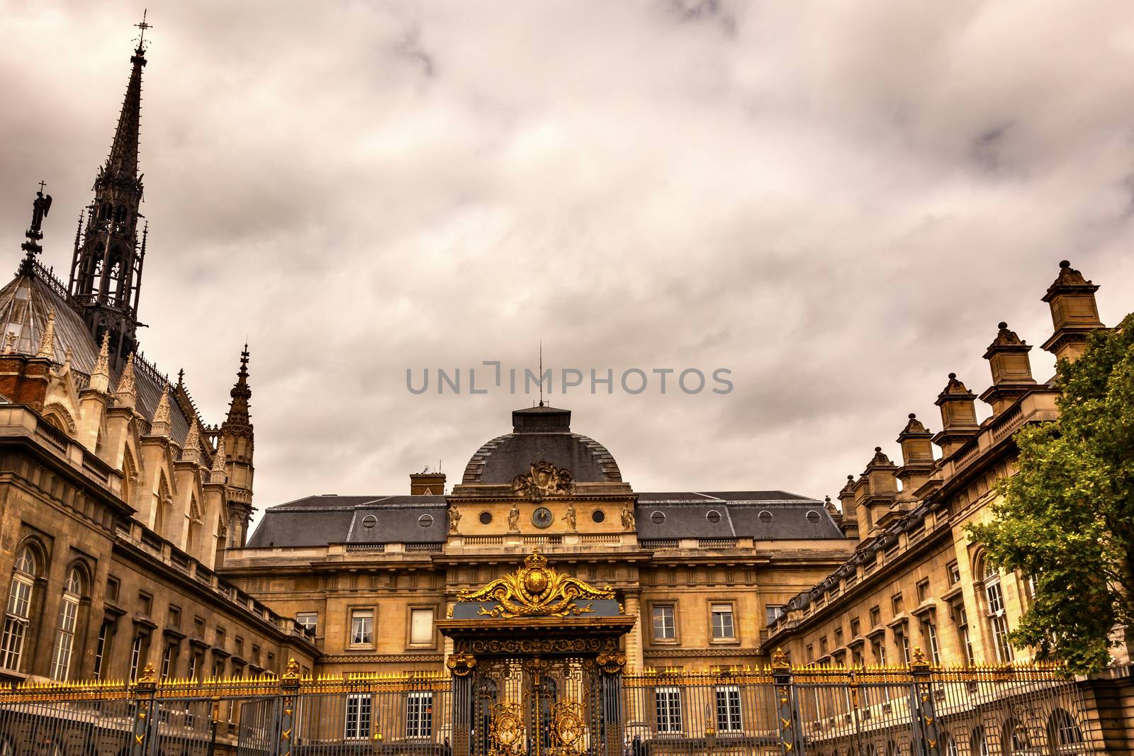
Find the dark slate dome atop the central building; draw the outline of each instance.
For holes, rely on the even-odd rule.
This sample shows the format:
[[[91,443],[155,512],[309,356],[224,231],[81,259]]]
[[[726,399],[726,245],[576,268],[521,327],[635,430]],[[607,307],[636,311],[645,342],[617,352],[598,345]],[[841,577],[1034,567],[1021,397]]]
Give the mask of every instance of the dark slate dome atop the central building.
[[[511,483],[532,462],[570,470],[576,483],[621,483],[618,462],[598,441],[570,432],[570,410],[530,407],[511,414],[511,433],[492,439],[473,455],[462,483]]]

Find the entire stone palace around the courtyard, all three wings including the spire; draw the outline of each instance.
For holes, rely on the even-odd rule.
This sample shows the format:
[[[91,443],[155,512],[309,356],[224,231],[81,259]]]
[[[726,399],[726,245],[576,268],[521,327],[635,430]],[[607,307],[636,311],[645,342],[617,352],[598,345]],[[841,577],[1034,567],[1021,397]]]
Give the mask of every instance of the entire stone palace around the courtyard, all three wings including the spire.
[[[776,647],[852,666],[906,663],[915,647],[945,664],[1029,656],[1007,642],[1029,586],[989,570],[964,530],[1012,474],[1013,433],[1057,413],[1056,388],[1034,380],[1031,347],[1004,323],[984,355],[992,416],[978,422],[978,397],[950,374],[941,430],[908,415],[900,464],[875,448],[840,507],[637,491],[569,410],[541,404],[514,411],[451,491],[422,473],[408,495],[306,496],[268,508],[249,534],[247,349],[214,425],[184,375],[171,383],[138,350],[145,62],[138,46],[68,283],[39,262],[50,197],[37,196],[0,289],[0,679],[134,679],[147,664],[162,678],[246,677],[291,657],[303,673],[441,671],[451,640],[437,623],[458,592],[536,549],[609,585],[637,619],[633,670],[753,666]],[[1103,328],[1097,288],[1060,266],[1044,349],[1074,358]],[[1092,681],[1097,712],[1132,698],[1116,655]]]

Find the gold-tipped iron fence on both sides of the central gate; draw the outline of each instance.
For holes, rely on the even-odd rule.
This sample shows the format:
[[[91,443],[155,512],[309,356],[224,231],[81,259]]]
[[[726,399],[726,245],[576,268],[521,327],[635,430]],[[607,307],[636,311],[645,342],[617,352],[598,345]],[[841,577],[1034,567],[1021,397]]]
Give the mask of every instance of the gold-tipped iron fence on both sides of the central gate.
[[[552,754],[534,716],[511,756],[1106,753],[1080,686],[1056,668],[670,669],[611,682],[601,722],[585,724],[601,732]],[[0,690],[0,756],[466,756],[457,745],[488,742],[494,724],[458,716],[468,702],[454,689],[440,672],[26,683]]]

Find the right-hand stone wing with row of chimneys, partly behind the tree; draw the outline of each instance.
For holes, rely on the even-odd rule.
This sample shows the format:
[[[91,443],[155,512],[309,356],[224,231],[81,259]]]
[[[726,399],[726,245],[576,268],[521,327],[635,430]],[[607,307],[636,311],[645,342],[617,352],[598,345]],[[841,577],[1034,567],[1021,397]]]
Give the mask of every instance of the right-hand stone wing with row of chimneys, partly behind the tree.
[[[1042,297],[1052,332],[1043,349],[1059,359],[1083,354],[1088,334],[1105,325],[1098,286],[1066,261]],[[900,464],[881,448],[839,492],[854,553],[822,580],[793,596],[769,628],[769,646],[796,663],[831,665],[908,664],[921,649],[934,664],[993,665],[1032,659],[1008,634],[1032,601],[1019,575],[987,563],[966,533],[987,521],[998,482],[1016,469],[1016,431],[1058,417],[1053,379],[1032,375],[1032,349],[1006,323],[984,351],[991,384],[974,394],[950,373],[934,405],[941,430],[930,432],[909,414],[897,436]],[[992,414],[976,419],[976,400]],[[933,447],[938,448],[934,453]],[[1117,646],[1114,664],[1089,681],[1095,714],[1118,753],[1134,742],[1134,691],[1129,649]],[[1126,724],[1123,724],[1123,723]],[[1125,753],[1125,751],[1123,751]]]

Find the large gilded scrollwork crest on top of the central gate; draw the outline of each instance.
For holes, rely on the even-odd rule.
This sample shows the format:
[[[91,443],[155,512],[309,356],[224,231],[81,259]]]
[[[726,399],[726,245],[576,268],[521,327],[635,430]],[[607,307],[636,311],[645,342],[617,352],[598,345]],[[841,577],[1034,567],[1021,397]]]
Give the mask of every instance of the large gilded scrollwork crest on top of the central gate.
[[[479,591],[462,591],[457,601],[496,601],[491,610],[477,612],[486,617],[567,617],[592,612],[591,605],[578,606],[576,600],[613,598],[610,586],[595,588],[576,577],[548,567],[540,550],[533,551],[524,566],[510,575],[492,580]]]

